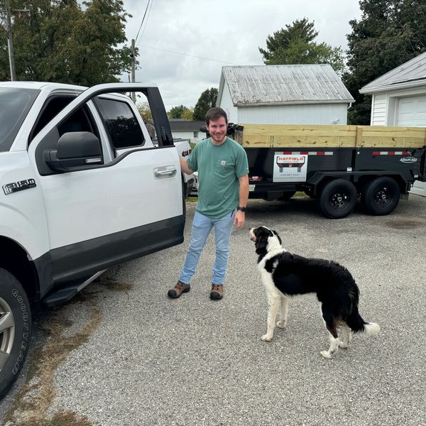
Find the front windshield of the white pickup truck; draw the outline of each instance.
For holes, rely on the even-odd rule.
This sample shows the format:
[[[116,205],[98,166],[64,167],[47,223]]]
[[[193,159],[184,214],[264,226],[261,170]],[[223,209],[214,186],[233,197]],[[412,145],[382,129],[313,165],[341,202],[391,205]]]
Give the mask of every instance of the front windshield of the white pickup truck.
[[[40,93],[35,89],[0,87],[0,152],[9,151],[23,120]]]

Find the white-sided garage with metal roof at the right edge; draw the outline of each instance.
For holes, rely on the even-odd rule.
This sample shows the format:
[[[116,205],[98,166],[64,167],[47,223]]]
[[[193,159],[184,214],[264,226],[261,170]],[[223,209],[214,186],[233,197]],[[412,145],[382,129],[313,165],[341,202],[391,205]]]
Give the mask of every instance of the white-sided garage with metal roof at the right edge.
[[[426,127],[426,52],[362,87],[371,94],[371,125]],[[411,192],[426,195],[426,183]]]

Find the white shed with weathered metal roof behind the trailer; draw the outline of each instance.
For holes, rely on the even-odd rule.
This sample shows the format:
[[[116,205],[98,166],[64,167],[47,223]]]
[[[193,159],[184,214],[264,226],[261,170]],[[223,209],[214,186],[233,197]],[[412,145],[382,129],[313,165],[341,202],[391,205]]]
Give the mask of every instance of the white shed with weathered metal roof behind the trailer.
[[[330,65],[222,67],[217,106],[238,124],[346,124],[354,98]]]

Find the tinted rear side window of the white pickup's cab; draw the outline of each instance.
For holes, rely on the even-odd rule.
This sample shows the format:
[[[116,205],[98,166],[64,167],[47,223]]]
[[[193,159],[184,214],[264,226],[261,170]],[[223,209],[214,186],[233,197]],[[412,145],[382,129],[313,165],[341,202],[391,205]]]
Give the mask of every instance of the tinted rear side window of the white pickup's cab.
[[[126,102],[97,98],[96,104],[114,148],[130,148],[145,143],[141,126]]]

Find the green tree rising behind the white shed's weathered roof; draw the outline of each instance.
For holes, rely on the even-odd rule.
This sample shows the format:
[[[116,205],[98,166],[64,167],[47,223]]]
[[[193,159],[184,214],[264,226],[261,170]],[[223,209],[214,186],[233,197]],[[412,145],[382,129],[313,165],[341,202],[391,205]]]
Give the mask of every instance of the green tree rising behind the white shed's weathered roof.
[[[266,49],[259,48],[266,65],[329,64],[341,73],[344,70],[342,48],[316,43],[315,23],[307,18],[293,21],[266,38]]]

